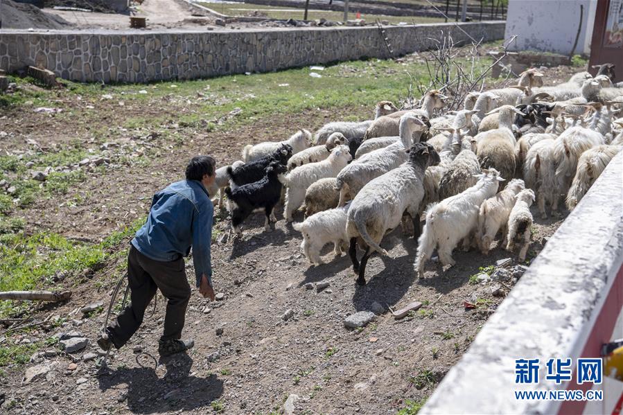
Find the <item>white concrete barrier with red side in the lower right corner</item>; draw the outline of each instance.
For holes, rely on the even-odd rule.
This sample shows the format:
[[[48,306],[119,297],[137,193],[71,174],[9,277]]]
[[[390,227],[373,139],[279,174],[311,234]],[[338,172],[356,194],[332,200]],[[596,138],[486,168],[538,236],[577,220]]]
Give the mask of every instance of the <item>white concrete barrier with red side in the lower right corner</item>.
[[[599,357],[623,337],[623,153],[611,161],[547,242],[420,414],[612,414],[623,382],[604,379],[604,400],[517,400],[514,391],[588,390],[545,379],[551,357]],[[515,383],[515,360],[539,358],[541,382]]]

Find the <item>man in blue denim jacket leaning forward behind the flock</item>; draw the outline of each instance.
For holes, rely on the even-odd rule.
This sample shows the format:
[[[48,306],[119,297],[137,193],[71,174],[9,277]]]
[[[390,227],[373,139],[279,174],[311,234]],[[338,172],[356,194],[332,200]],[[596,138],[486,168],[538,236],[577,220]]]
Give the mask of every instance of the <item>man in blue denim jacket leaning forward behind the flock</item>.
[[[147,222],[132,239],[128,254],[131,302],[98,339],[103,350],[121,348],[128,342],[141,326],[157,289],[167,299],[158,353],[168,356],[193,347],[192,339],[180,340],[191,298],[183,257],[192,246],[199,292],[214,301],[210,258],[213,206],[206,191],[216,177],[214,165],[212,157],[193,157],[186,167],[186,180],[154,195]]]

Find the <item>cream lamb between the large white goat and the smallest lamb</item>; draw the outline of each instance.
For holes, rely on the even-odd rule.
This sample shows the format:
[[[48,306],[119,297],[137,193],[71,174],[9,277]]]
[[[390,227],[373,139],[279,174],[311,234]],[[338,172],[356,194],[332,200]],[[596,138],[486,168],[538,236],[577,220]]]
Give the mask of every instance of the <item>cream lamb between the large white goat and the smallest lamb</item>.
[[[517,193],[523,191],[525,184],[522,179],[512,179],[503,191],[482,202],[478,213],[477,240],[482,254],[488,254],[491,242],[498,231],[502,231],[504,240],[502,246],[506,246],[507,223],[511,209],[515,205]]]

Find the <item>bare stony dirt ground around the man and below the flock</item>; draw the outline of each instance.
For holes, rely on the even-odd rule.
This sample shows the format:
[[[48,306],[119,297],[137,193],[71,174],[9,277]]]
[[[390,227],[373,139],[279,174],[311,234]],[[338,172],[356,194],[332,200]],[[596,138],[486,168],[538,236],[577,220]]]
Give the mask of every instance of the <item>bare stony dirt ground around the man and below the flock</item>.
[[[562,80],[573,71],[552,69],[549,74]],[[58,95],[65,108],[86,105],[76,96],[62,91]],[[164,112],[174,121],[179,111],[175,105],[130,105],[120,112],[109,100],[89,104],[98,116],[88,121],[62,118],[61,122],[55,114],[26,112],[24,108],[10,109],[0,117],[0,131],[7,133],[0,150],[11,154],[33,145],[26,139],[54,148],[67,145],[69,135],[80,139],[86,149],[98,148],[100,143],[94,141],[91,131],[103,126],[108,127],[105,141],[118,144],[105,150],[104,155],[112,160],[106,168],[88,171],[86,181],[74,193],[18,211],[16,215],[26,220],[28,233],[48,230],[96,242],[146,215],[152,194],[182,179],[186,161],[195,154],[213,154],[219,165],[229,164],[238,159],[243,144],[286,138],[293,125],[315,129],[345,114],[365,118],[370,112],[358,107],[323,109],[259,120],[227,132],[204,132],[172,123],[168,128],[178,130],[184,141],[171,145],[153,132],[124,131],[116,125],[123,125],[125,118],[139,111],[146,116],[150,111]],[[155,155],[146,166],[134,165],[129,170],[116,162],[122,156],[148,150]],[[69,203],[76,194],[81,195],[78,206]],[[216,212],[214,232],[220,239],[229,229],[229,220],[226,212]],[[301,236],[281,213],[282,209],[277,209],[275,231],[263,231],[263,215],[258,214],[245,223],[242,239],[213,243],[213,282],[216,292],[224,295],[222,301],[209,303],[193,289],[184,337],[195,339],[195,347],[187,356],[158,360],[157,339],[165,311],[159,294],[155,314],[151,315],[150,306],[139,333],[114,352],[109,369],[98,369],[94,360],[83,360],[83,354],[97,353],[95,339],[105,310],[82,317],[79,309],[94,301],[107,306],[116,283],[112,275],[123,268],[125,259],[66,281],[73,290],[71,301],[38,308],[34,314],[37,319],[60,318],[64,323],[58,328],[44,325],[17,334],[17,339],[28,343],[77,330],[89,338],[89,345],[73,354],[50,346],[29,364],[9,367],[0,376],[2,410],[28,414],[269,414],[283,413],[286,398],[296,394],[296,414],[393,414],[405,406],[406,399],[422,400],[432,393],[516,283],[516,278],[469,283],[480,267],[493,265],[493,270],[502,258],[513,258],[505,265],[507,270],[518,264],[514,254],[502,249],[493,249],[489,256],[474,250],[455,251],[455,267],[442,270],[439,263],[430,261],[425,278],[417,279],[412,265],[416,241],[396,229],[381,243],[389,256],[370,259],[368,283],[360,287],[354,283],[346,256],[310,266],[299,248]],[[538,254],[563,220],[541,220],[536,213],[534,217],[530,256]],[[302,214],[295,220],[302,220]],[[324,254],[330,261],[330,247]],[[194,281],[190,260],[186,271]],[[314,284],[319,282],[329,285],[317,290]],[[385,312],[362,330],[344,327],[344,318],[371,310],[374,301],[386,308],[402,308],[412,301],[421,301],[423,306],[404,319]],[[464,301],[477,307],[466,309]],[[283,315],[290,309],[294,315],[286,321]],[[49,373],[24,384],[26,369],[36,364],[49,367]]]

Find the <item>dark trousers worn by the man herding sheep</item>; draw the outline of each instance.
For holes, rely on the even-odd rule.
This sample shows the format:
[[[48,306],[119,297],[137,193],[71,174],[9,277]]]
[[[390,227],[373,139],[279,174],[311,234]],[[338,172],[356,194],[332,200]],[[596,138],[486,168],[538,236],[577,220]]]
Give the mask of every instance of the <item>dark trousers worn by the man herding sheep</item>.
[[[155,261],[130,245],[128,254],[128,284],[130,304],[107,328],[109,338],[116,348],[123,346],[143,323],[143,315],[159,288],[167,299],[164,316],[164,334],[161,340],[182,337],[184,318],[191,287],[184,272],[184,258],[170,262]]]

